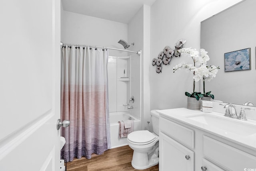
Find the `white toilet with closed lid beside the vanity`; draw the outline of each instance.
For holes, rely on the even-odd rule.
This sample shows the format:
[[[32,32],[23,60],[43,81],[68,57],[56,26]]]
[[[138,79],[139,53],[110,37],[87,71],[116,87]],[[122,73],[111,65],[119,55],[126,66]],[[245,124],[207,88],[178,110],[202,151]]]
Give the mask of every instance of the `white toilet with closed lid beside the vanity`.
[[[147,169],[159,162],[159,113],[151,110],[153,132],[148,130],[131,132],[127,143],[133,149],[132,167],[138,170]]]

